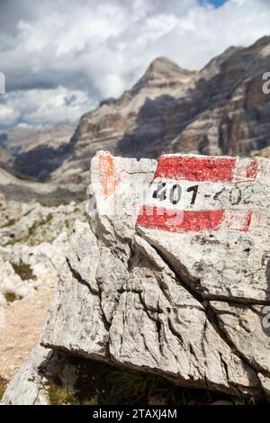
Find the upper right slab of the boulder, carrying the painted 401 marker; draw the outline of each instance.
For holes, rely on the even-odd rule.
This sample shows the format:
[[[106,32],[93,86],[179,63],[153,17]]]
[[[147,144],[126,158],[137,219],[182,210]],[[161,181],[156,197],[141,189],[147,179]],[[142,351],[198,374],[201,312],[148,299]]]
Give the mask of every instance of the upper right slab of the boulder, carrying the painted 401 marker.
[[[203,293],[266,300],[269,188],[266,158],[162,156],[137,229]]]

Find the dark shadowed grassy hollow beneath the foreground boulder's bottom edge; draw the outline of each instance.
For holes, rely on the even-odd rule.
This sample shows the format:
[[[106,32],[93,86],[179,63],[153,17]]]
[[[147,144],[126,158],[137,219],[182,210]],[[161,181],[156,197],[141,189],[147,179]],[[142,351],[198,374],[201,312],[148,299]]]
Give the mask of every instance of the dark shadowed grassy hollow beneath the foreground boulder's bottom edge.
[[[242,399],[226,394],[182,388],[157,374],[118,369],[103,363],[70,357],[78,369],[75,392],[68,392],[60,381],[49,386],[53,405],[204,405],[214,401],[253,405],[253,398]]]

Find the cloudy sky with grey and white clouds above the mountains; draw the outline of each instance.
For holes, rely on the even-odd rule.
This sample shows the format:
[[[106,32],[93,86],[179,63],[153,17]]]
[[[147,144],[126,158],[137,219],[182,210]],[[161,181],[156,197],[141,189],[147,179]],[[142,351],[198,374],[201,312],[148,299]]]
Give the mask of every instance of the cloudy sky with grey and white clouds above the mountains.
[[[0,0],[0,129],[76,122],[158,56],[199,69],[270,33],[270,0]]]

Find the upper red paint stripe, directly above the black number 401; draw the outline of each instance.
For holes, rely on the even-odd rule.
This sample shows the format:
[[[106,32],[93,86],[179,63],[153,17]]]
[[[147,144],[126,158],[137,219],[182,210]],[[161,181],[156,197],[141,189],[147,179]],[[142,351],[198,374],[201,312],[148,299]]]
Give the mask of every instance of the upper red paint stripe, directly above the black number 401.
[[[229,182],[233,179],[235,165],[236,158],[161,156],[155,177]]]

